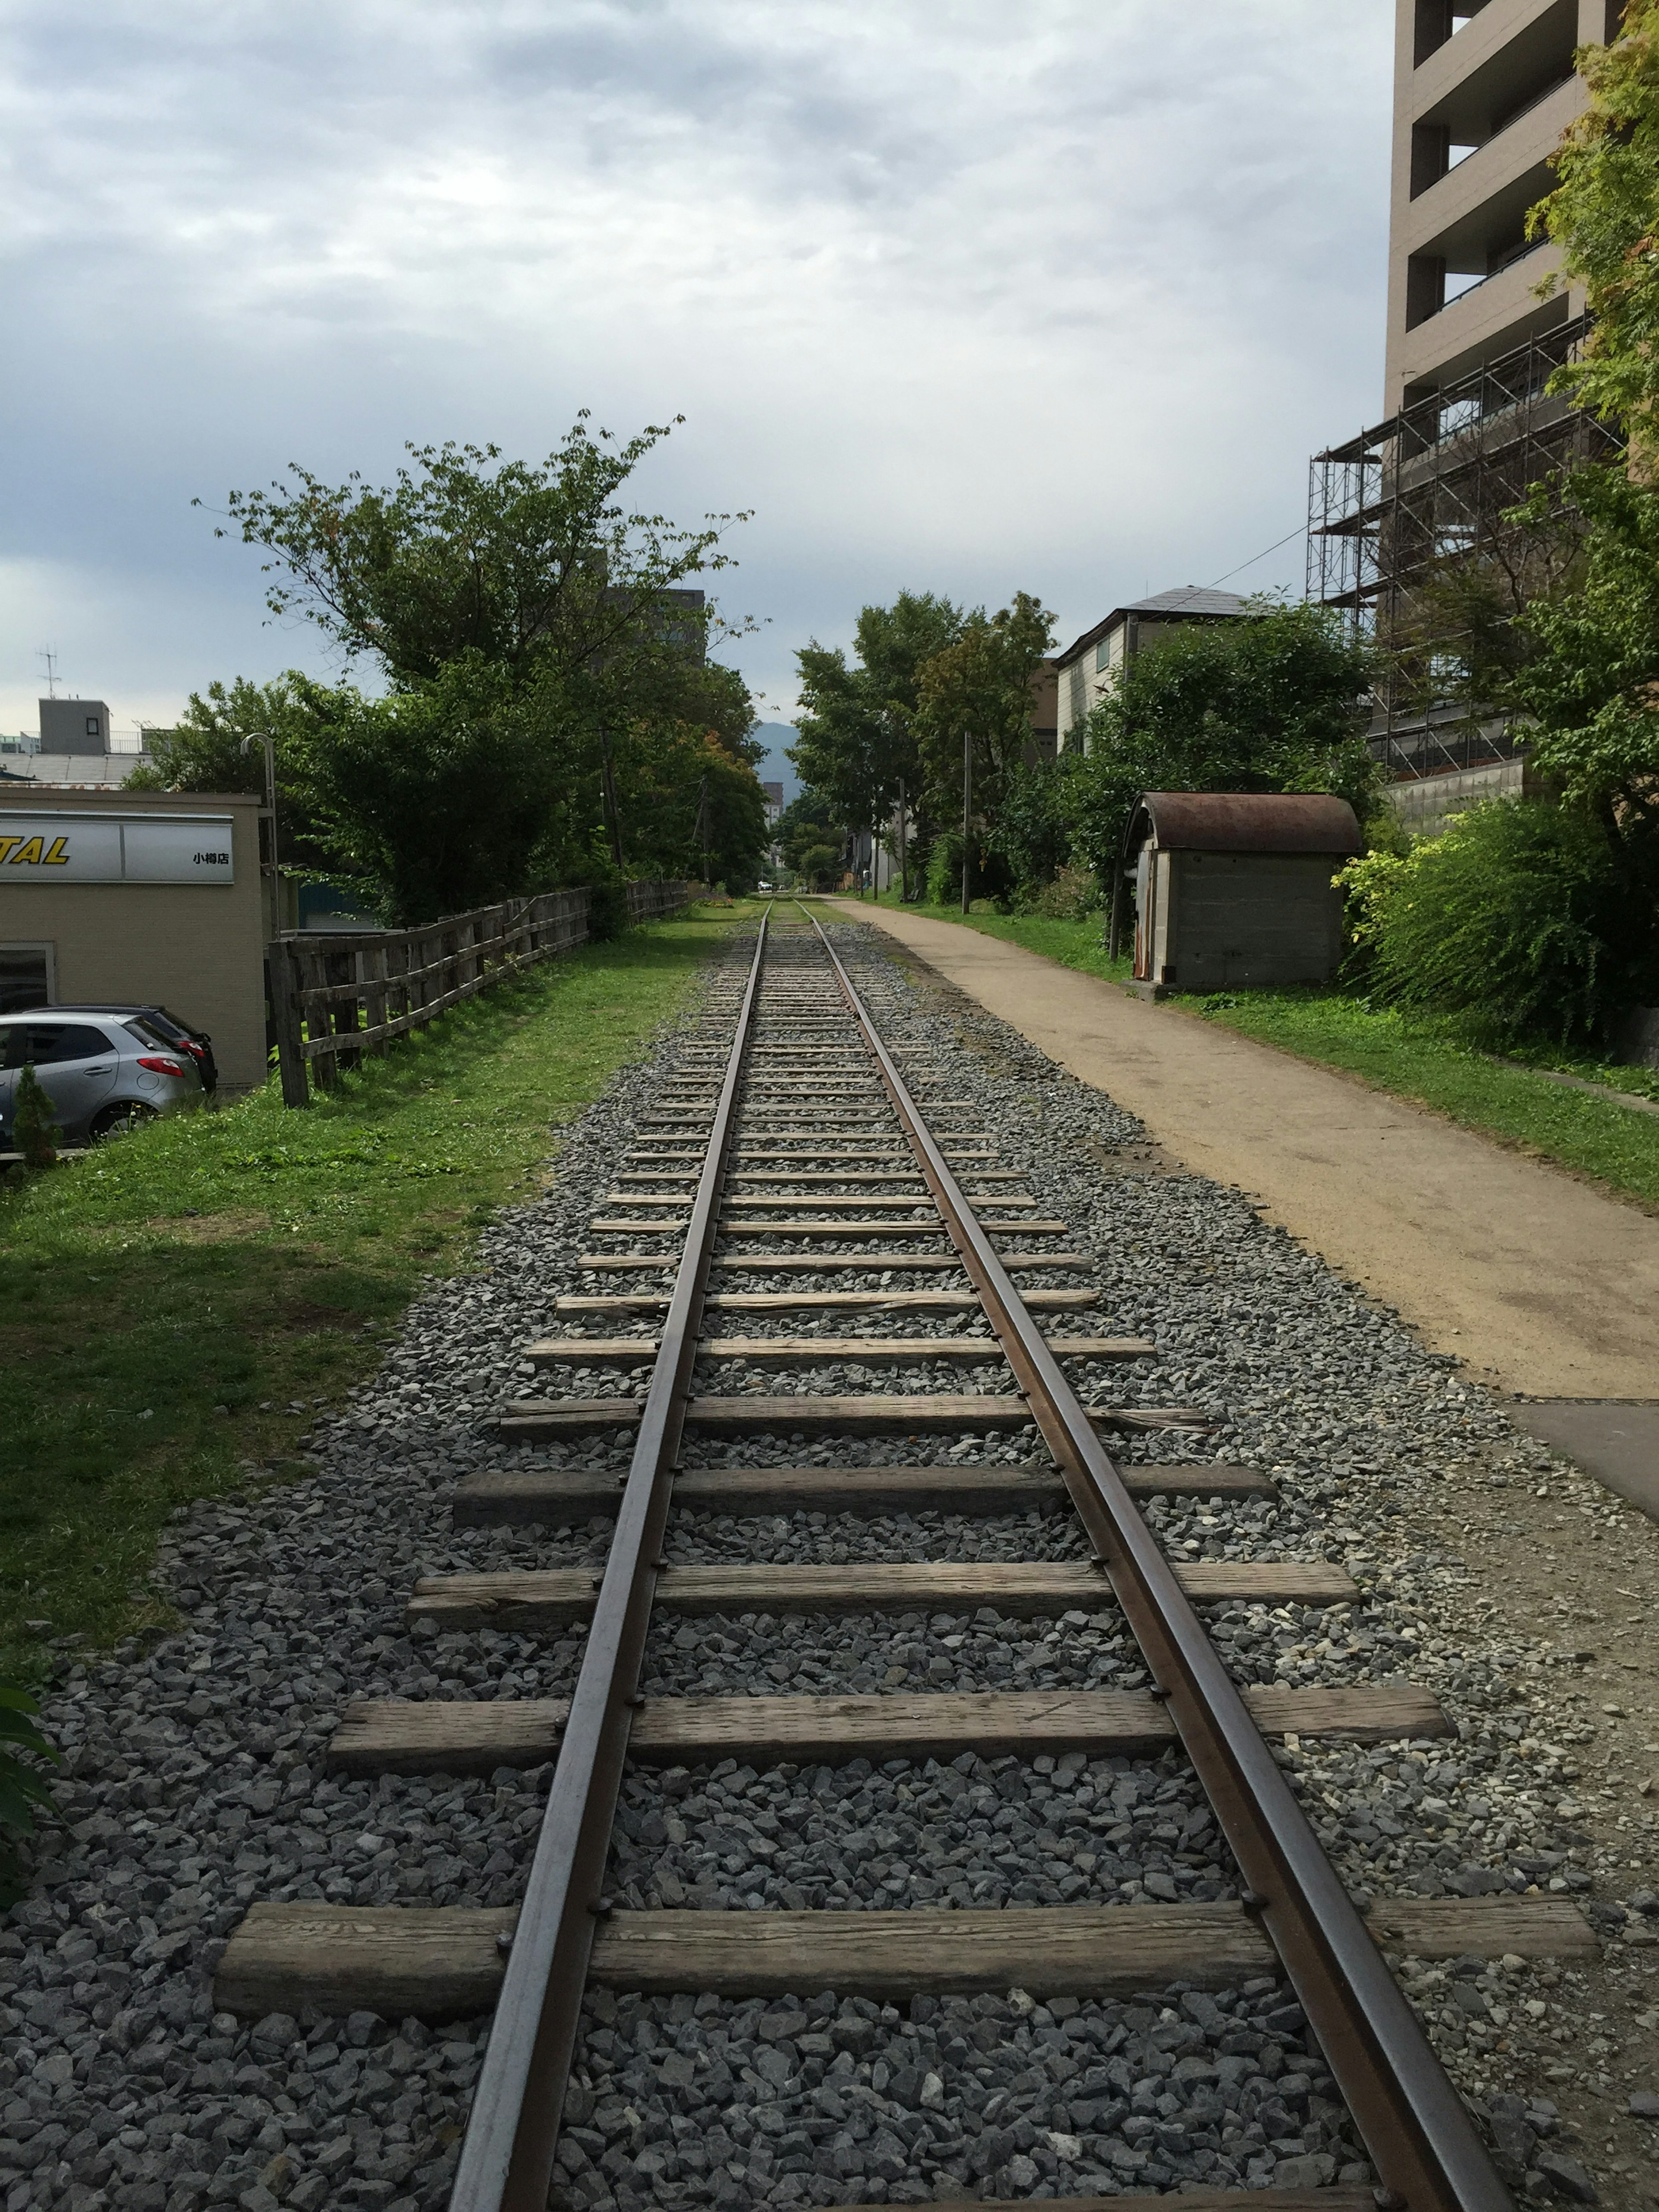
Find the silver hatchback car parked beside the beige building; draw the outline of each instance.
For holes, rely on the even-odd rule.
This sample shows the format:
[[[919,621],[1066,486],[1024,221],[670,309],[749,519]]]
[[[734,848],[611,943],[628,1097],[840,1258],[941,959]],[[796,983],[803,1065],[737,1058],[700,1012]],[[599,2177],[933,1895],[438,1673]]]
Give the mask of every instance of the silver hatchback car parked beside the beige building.
[[[0,1150],[11,1150],[18,1068],[33,1066],[64,1144],[91,1144],[201,1099],[188,1053],[142,1015],[58,1013],[31,1006],[0,1015]]]

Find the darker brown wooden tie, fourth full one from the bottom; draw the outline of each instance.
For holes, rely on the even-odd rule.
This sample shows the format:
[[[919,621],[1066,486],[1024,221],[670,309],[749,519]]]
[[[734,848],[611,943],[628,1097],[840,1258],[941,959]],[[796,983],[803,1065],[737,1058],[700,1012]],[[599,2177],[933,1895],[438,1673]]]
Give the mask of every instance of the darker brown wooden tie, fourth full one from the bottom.
[[[1254,1467],[1121,1467],[1130,1498],[1274,1498]],[[608,1469],[500,1469],[467,1475],[456,1528],[502,1522],[571,1526],[613,1515],[622,1478]],[[675,1478],[675,1506],[690,1513],[1040,1513],[1064,1506],[1053,1469],[1026,1467],[708,1467]]]

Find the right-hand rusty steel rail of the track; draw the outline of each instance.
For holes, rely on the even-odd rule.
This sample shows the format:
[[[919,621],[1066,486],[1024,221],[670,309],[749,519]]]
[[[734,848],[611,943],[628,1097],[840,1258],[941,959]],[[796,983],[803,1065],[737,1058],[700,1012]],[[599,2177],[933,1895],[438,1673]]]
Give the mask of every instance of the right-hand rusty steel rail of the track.
[[[1157,1694],[1168,1701],[1170,1719],[1250,1885],[1243,1902],[1261,1916],[1365,2137],[1383,2177],[1378,2205],[1409,2205],[1411,2212],[1513,2212],[1513,2199],[1462,2099],[945,1164],[841,956],[818,918],[805,907],[801,911],[818,931],[962,1267],[984,1303],[1031,1418],[1060,1464],[1095,1544],[1097,1564],[1110,1577],[1135,1641],[1152,1668]]]

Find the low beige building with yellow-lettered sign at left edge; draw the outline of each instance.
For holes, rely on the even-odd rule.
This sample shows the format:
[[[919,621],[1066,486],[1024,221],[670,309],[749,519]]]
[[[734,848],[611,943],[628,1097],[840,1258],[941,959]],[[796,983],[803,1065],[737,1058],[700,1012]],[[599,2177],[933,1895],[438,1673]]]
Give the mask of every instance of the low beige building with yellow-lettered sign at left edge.
[[[265,1079],[259,801],[0,783],[0,1004],[161,1004]]]

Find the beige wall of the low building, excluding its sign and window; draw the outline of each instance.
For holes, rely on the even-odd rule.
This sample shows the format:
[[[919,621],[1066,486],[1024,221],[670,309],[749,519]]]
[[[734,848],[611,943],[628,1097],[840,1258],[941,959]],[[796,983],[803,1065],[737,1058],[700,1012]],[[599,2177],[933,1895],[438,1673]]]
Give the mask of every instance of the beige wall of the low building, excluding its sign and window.
[[[15,814],[230,814],[232,883],[62,883],[0,863],[0,945],[51,953],[58,1002],[155,1002],[212,1035],[219,1079],[265,1079],[259,801],[0,785]]]

